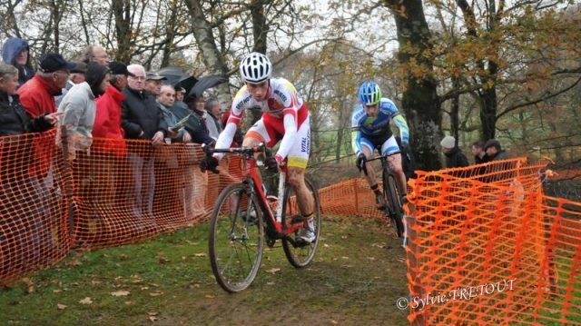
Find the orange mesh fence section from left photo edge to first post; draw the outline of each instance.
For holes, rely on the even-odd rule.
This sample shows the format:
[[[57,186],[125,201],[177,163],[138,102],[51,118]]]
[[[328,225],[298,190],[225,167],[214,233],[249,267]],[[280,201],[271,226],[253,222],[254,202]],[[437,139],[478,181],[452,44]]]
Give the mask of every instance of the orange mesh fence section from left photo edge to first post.
[[[0,137],[0,282],[50,266],[70,252],[54,135]]]

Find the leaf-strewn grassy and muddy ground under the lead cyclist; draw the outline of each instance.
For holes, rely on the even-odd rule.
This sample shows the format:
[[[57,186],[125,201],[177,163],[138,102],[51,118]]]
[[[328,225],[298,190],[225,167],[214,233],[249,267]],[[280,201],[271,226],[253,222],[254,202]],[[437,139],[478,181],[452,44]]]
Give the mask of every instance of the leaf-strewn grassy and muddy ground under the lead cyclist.
[[[380,222],[324,219],[319,252],[302,270],[286,261],[280,242],[267,247],[256,280],[237,294],[214,281],[207,240],[203,223],[139,244],[77,253],[34,274],[28,285],[0,290],[0,323],[407,324],[407,311],[395,304],[408,293],[405,253]],[[120,291],[128,295],[112,294]],[[85,298],[92,303],[81,303]]]

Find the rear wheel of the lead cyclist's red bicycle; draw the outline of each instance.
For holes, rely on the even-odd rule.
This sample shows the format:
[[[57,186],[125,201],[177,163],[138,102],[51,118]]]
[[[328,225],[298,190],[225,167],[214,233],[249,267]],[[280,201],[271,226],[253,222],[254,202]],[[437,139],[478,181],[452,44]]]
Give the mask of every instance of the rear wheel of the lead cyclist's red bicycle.
[[[288,234],[289,238],[282,239],[282,249],[284,249],[284,254],[287,256],[287,260],[291,262],[291,265],[296,268],[301,268],[307,266],[312,259],[315,257],[317,248],[319,246],[319,235],[320,235],[320,202],[319,193],[317,188],[313,185],[310,180],[305,177],[305,184],[310,194],[313,196],[314,202],[314,213],[311,226],[314,228],[312,230],[315,234],[315,240],[313,242],[307,243],[299,239],[299,230]],[[284,191],[283,202],[282,202],[282,225],[287,225],[291,223],[291,217],[293,215],[300,214],[299,204],[297,203],[296,195],[290,186],[287,186]],[[307,222],[305,222],[307,223]],[[294,243],[293,243],[294,242]]]

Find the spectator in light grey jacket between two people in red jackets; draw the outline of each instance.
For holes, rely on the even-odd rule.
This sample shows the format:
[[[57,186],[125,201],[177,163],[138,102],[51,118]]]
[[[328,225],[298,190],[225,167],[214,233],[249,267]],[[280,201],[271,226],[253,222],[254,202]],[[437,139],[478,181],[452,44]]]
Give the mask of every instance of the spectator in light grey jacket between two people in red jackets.
[[[87,64],[85,81],[75,84],[64,95],[58,112],[63,113],[60,125],[66,126],[69,137],[69,160],[75,158],[75,150],[88,153],[93,137],[96,111],[95,98],[104,94],[109,87],[109,68],[101,64]],[[77,138],[80,136],[82,138]],[[59,138],[60,139],[60,138]]]

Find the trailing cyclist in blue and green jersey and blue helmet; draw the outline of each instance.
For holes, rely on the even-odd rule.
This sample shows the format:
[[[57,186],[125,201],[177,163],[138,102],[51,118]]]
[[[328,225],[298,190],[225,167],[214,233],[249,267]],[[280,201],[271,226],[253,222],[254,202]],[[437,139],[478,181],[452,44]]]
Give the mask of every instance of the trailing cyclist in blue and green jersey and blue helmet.
[[[404,117],[391,100],[381,97],[379,85],[374,82],[366,82],[359,87],[359,102],[351,115],[351,144],[353,152],[357,155],[357,168],[359,172],[367,172],[365,178],[369,187],[375,193],[378,208],[385,206],[385,201],[378,189],[375,171],[367,160],[373,158],[373,151],[377,148],[379,153],[387,155],[399,151],[389,122],[393,120],[399,128],[399,135],[403,146],[409,143],[409,128]],[[401,194],[407,193],[406,176],[401,168],[401,154],[391,155],[388,158],[389,167],[399,180]]]

